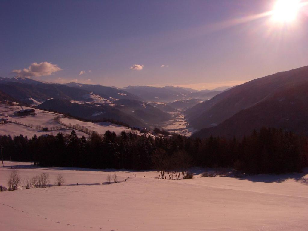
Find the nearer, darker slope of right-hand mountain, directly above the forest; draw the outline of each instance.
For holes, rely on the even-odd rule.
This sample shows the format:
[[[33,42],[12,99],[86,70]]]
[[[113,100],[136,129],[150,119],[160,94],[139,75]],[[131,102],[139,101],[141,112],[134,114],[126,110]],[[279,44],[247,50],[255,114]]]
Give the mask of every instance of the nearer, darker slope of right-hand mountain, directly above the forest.
[[[242,110],[221,124],[204,128],[193,136],[249,135],[262,127],[282,128],[308,136],[308,81],[278,91],[253,107]]]

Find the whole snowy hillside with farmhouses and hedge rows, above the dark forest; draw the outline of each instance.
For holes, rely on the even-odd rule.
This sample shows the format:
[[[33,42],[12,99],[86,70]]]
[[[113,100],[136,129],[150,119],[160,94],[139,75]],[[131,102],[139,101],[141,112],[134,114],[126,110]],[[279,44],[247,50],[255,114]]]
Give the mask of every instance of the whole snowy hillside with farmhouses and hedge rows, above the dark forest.
[[[22,109],[32,109],[32,108],[0,105],[0,118],[6,118],[8,119],[8,121],[11,121],[11,123],[0,124],[0,135],[19,136],[20,134],[22,134],[23,136],[28,136],[29,138],[34,136],[34,134],[36,134],[37,136],[45,134],[56,135],[58,132],[62,132],[63,135],[66,135],[70,134],[72,129],[68,128],[63,124],[69,125],[70,123],[71,125],[79,124],[81,127],[83,126],[84,128],[87,128],[88,130],[94,132],[98,132],[99,134],[104,134],[107,130],[115,132],[118,135],[122,131],[139,133],[139,131],[137,130],[132,130],[125,126],[112,124],[110,122],[90,123],[70,118],[61,118],[60,120],[61,122],[63,122],[63,124],[62,123],[59,124],[57,121],[54,120],[54,118],[58,115],[61,116],[61,114],[49,111],[43,111],[35,108],[34,108],[35,115],[14,116],[14,111]],[[48,131],[42,131],[43,127],[47,127]],[[65,129],[60,129],[60,128],[65,128]],[[76,133],[79,137],[89,136],[88,134],[77,130]]]

